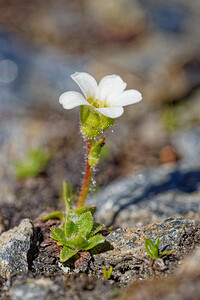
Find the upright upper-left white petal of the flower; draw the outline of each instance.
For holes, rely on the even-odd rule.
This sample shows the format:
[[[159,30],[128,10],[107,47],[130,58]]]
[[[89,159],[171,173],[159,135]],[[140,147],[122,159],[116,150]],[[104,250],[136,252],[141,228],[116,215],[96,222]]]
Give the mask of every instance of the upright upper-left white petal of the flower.
[[[85,72],[76,72],[72,74],[71,77],[78,84],[86,99],[95,96],[97,82],[94,77]]]

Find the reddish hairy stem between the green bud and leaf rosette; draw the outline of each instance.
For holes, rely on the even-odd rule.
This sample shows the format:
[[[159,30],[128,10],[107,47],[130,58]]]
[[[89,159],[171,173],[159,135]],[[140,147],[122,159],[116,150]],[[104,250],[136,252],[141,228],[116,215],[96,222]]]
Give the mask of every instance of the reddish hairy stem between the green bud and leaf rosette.
[[[92,140],[87,140],[87,157],[86,157],[86,164],[85,164],[85,176],[83,179],[83,185],[81,188],[81,192],[76,204],[76,208],[79,208],[81,206],[84,206],[85,200],[87,198],[89,188],[90,188],[90,183],[92,179],[92,168],[88,163],[88,158],[89,158],[89,153],[90,149],[92,148]]]

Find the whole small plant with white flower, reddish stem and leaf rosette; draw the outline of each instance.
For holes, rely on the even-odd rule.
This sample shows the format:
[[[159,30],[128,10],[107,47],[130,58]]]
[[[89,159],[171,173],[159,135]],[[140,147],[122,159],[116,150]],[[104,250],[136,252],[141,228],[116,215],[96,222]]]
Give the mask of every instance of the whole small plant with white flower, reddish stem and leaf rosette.
[[[137,90],[126,90],[126,83],[118,75],[108,75],[96,80],[84,72],[71,75],[83,94],[74,91],[63,93],[59,102],[65,109],[80,106],[80,132],[87,144],[85,173],[76,208],[71,209],[70,199],[64,195],[65,213],[55,212],[60,216],[61,226],[52,229],[51,237],[63,246],[60,254],[62,262],[81,250],[90,250],[104,242],[104,237],[97,234],[102,225],[93,222],[95,207],[85,206],[90,189],[94,168],[100,160],[101,149],[105,144],[104,132],[111,128],[115,119],[124,112],[124,106],[142,100]],[[64,186],[66,189],[66,186]],[[49,215],[50,216],[50,215]],[[50,218],[47,216],[45,219]]]

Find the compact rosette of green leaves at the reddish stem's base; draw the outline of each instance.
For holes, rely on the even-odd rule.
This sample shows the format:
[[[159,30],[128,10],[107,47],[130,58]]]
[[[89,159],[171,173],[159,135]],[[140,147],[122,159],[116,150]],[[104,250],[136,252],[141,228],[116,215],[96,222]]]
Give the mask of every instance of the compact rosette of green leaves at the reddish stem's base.
[[[93,223],[94,207],[81,207],[67,213],[65,223],[52,229],[51,237],[63,246],[60,261],[65,262],[81,250],[90,250],[104,243],[102,235],[97,234],[102,225]]]

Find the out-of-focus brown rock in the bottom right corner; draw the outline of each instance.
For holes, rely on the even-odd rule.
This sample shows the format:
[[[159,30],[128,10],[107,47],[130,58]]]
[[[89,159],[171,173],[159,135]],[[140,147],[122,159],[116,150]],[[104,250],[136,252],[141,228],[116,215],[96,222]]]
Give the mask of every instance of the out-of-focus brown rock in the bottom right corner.
[[[199,299],[200,248],[187,257],[173,279],[155,278],[130,285],[121,300]]]

